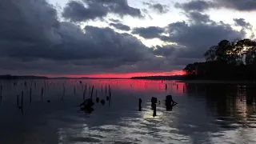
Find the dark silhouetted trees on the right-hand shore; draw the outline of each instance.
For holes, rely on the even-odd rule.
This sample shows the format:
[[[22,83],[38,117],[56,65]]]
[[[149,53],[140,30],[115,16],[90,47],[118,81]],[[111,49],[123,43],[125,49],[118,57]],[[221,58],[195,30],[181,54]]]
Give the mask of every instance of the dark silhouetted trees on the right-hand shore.
[[[256,42],[251,39],[222,40],[204,54],[206,62],[188,64],[189,79],[255,80]]]

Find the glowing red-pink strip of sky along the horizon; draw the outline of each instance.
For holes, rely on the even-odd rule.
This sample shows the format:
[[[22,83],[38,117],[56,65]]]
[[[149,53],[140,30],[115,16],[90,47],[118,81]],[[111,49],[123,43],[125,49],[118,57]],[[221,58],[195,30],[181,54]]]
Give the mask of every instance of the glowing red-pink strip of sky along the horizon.
[[[46,75],[46,77],[68,77],[68,78],[131,78],[131,77],[143,77],[143,76],[171,76],[171,75],[184,75],[182,70],[173,70],[170,72],[138,72],[138,73],[126,73],[126,74],[75,74],[75,75]]]

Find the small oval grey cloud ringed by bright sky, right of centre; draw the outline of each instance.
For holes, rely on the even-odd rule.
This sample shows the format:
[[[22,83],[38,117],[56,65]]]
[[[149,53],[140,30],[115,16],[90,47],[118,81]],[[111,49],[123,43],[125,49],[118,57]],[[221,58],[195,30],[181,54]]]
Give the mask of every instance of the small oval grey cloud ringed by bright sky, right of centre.
[[[138,34],[143,38],[158,38],[162,33],[164,29],[157,26],[137,27],[132,31],[132,34]]]

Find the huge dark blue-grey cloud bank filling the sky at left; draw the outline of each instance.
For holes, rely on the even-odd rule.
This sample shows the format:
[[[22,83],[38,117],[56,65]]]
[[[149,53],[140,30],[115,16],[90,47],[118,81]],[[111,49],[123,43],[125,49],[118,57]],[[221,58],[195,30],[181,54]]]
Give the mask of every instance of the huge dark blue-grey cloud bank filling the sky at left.
[[[154,54],[138,38],[107,27],[82,30],[72,22],[59,22],[54,7],[44,0],[2,0],[1,6],[1,73],[118,72],[118,67],[154,61]]]

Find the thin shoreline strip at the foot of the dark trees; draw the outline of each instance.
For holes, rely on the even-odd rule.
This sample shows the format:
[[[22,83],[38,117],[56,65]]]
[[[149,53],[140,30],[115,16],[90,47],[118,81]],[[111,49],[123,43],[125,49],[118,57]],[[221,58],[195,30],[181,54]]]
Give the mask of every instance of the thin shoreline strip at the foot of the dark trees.
[[[246,80],[179,80],[177,82],[182,83],[194,83],[194,84],[251,84],[256,83],[255,81]]]

